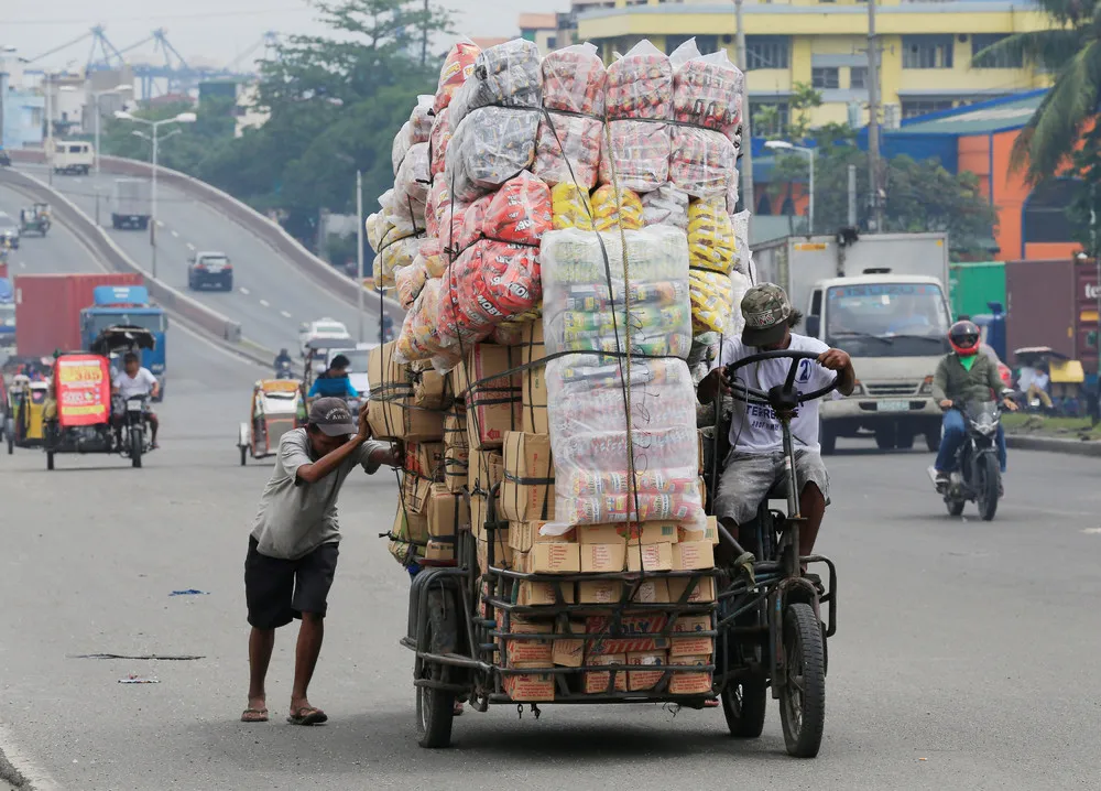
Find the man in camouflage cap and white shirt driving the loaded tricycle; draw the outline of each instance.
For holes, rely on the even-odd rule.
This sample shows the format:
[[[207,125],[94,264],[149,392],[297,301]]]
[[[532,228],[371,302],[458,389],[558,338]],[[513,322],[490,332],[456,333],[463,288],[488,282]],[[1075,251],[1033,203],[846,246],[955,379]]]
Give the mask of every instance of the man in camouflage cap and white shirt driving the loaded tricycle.
[[[780,349],[817,353],[818,365],[813,360],[762,360],[741,369],[738,372],[740,382],[767,391],[783,384],[792,365],[797,365],[795,382],[803,392],[827,387],[835,376],[842,396],[852,392],[857,375],[849,355],[831,349],[817,338],[793,333],[792,328],[803,321],[803,314],[792,307],[787,294],[778,285],[763,283],[750,289],[742,300],[741,311],[745,318],[742,337],[723,340],[711,372],[699,383],[700,403],[710,403],[719,392],[730,393],[734,382],[727,378],[728,365],[760,351]],[[802,487],[799,511],[806,519],[799,528],[799,549],[810,554],[829,503],[829,475],[818,444],[818,402],[803,404],[792,416],[791,429],[795,474]],[[735,404],[730,424],[730,453],[723,464],[715,512],[742,546],[749,549],[753,541],[748,534],[739,535],[740,527],[753,521],[768,490],[783,479],[783,433],[776,414],[763,404]]]

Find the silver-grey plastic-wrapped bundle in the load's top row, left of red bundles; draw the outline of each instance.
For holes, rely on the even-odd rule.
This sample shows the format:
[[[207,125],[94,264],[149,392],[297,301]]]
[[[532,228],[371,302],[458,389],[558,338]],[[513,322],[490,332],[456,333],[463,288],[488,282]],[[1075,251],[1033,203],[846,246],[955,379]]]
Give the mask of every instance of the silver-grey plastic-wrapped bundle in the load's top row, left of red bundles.
[[[473,73],[451,97],[451,123],[458,127],[469,112],[490,105],[537,108],[542,97],[539,48],[513,39],[478,54]]]

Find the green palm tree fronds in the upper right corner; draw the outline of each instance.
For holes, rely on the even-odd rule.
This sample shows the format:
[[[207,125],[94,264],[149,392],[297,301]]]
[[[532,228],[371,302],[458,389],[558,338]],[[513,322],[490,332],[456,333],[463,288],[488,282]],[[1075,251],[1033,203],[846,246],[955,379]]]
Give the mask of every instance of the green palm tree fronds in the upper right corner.
[[[1057,175],[1101,111],[1101,2],[1038,0],[1049,30],[1012,35],[975,61],[1027,59],[1054,75],[1054,85],[1013,148],[1013,166],[1032,183]]]

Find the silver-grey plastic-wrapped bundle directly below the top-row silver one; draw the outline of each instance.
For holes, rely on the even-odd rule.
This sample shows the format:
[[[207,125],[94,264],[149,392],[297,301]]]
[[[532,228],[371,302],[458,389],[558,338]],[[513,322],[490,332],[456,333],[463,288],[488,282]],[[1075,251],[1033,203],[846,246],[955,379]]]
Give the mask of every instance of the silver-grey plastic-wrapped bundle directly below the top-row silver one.
[[[538,127],[539,113],[506,107],[483,107],[465,118],[448,144],[444,177],[451,199],[469,203],[528,170]]]

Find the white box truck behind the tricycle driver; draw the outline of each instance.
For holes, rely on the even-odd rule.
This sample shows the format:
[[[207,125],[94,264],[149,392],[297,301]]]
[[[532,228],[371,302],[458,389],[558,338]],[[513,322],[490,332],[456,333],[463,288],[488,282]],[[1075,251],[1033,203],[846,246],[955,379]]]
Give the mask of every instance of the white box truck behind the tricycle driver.
[[[882,449],[940,444],[933,375],[948,351],[946,234],[787,237],[753,250],[757,282],[782,285],[807,335],[848,351],[857,389],[824,401],[822,453],[871,432]]]

